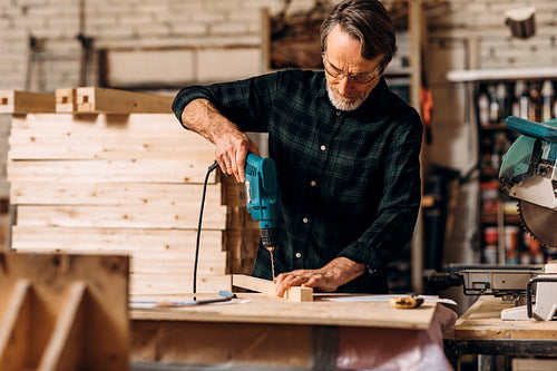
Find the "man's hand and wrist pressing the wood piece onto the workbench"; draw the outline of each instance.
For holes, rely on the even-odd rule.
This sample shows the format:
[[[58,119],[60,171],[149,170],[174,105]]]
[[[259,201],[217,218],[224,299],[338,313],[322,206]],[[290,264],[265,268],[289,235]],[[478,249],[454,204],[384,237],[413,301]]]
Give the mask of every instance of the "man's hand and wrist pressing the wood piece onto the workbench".
[[[334,292],[339,286],[354,280],[365,271],[363,264],[346,257],[336,257],[320,270],[296,270],[281,273],[274,280],[275,294],[284,296],[292,286],[313,287]]]

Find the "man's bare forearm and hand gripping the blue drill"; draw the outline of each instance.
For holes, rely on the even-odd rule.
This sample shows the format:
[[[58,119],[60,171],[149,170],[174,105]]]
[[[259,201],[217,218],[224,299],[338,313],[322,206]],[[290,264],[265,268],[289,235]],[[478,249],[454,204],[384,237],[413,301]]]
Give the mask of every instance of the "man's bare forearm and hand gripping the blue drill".
[[[216,146],[216,160],[224,174],[234,175],[241,183],[245,182],[247,153],[260,155],[260,149],[247,135],[240,131],[207,99],[190,101],[182,113],[182,123]]]

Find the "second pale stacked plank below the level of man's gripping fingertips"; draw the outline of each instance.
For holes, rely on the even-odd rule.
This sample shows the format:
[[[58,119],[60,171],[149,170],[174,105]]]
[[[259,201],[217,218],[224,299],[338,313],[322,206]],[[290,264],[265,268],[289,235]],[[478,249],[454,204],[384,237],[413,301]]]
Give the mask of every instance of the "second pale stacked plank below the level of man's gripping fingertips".
[[[196,228],[198,209],[149,206],[18,206],[21,226],[113,227],[113,228]],[[203,213],[203,228],[225,230],[226,207],[212,206]]]

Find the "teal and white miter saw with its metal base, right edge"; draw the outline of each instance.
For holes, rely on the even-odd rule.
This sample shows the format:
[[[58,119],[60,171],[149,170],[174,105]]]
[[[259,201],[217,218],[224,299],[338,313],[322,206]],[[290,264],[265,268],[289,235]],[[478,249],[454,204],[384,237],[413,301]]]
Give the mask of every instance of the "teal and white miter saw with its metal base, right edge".
[[[535,123],[508,117],[521,134],[504,157],[499,179],[518,199],[524,227],[548,248],[557,246],[557,118]],[[536,284],[536,295],[532,286]],[[429,277],[432,289],[462,285],[465,294],[501,296],[517,305],[501,311],[502,320],[557,319],[557,261],[545,265],[452,265]]]

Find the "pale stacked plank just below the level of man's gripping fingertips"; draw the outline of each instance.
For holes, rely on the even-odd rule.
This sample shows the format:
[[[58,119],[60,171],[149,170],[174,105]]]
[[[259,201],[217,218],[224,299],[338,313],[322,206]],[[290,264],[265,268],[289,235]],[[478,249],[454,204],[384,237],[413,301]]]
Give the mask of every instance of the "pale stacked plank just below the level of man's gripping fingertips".
[[[202,184],[190,183],[56,183],[12,182],[12,205],[145,205],[152,207],[199,208]],[[205,205],[219,206],[222,185],[209,184]]]

